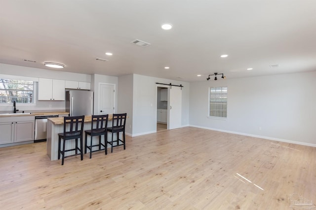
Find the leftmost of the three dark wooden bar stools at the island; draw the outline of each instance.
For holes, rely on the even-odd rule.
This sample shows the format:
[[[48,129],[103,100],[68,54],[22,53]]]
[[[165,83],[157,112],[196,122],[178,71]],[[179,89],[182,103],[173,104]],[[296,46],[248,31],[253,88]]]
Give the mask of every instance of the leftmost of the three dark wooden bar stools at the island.
[[[83,160],[83,124],[84,116],[64,117],[64,132],[58,133],[58,159],[63,155],[61,165],[64,165],[64,158],[74,156],[80,151],[81,160]],[[61,148],[61,139],[63,139],[63,148]],[[65,150],[65,142],[75,139],[76,146],[74,149]],[[78,147],[78,139],[80,139],[80,148]],[[65,156],[65,151],[74,151],[75,154]]]

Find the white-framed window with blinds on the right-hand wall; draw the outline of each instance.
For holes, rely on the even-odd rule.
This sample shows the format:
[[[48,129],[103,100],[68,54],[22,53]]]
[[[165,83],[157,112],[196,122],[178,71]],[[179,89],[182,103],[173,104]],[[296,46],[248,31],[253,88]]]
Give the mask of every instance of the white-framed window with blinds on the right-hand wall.
[[[209,88],[208,117],[227,118],[227,87]]]

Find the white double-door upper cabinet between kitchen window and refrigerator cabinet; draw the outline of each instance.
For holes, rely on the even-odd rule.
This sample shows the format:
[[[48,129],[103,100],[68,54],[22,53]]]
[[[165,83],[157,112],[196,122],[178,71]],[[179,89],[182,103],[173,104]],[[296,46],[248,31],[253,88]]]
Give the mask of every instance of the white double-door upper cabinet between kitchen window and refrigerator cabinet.
[[[39,78],[38,100],[65,100],[65,80]]]

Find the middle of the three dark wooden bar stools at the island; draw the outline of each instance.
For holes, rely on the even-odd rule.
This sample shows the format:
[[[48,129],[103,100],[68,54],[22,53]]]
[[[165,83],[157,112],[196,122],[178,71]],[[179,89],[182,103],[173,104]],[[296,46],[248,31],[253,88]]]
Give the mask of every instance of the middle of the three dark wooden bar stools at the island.
[[[108,154],[108,151],[107,151],[108,119],[109,119],[109,115],[92,115],[91,130],[84,131],[85,132],[84,153],[87,153],[87,149],[89,149],[90,150],[90,158],[91,158],[91,153],[94,151],[105,150],[105,154]],[[87,136],[88,135],[90,135],[90,146],[87,145]],[[104,144],[102,144],[102,142],[101,142],[102,135],[104,135]],[[92,137],[93,136],[99,136],[99,144],[92,145]],[[104,148],[101,149],[101,146],[103,146]],[[92,151],[93,147],[99,147],[99,150]]]

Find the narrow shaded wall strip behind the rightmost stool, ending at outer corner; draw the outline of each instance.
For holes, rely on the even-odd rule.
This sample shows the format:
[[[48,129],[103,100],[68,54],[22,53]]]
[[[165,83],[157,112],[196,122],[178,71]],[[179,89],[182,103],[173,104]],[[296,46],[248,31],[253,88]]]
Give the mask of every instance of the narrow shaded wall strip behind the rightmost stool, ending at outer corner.
[[[133,128],[133,75],[118,77],[118,113],[127,113],[125,131],[132,135]]]

